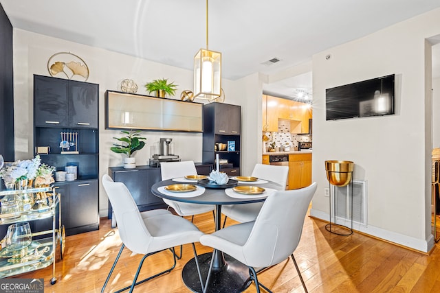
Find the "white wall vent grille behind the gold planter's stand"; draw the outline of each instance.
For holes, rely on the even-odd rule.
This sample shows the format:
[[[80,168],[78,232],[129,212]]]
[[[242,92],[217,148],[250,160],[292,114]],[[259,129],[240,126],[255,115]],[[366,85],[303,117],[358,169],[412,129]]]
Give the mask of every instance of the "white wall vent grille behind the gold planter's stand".
[[[353,196],[351,187],[353,185]],[[336,215],[336,224],[347,226],[351,221],[351,200],[353,200],[353,224],[366,226],[366,181],[353,180],[345,187],[331,185],[331,194],[336,198],[336,204],[331,200],[331,214]],[[335,210],[336,206],[336,210]]]

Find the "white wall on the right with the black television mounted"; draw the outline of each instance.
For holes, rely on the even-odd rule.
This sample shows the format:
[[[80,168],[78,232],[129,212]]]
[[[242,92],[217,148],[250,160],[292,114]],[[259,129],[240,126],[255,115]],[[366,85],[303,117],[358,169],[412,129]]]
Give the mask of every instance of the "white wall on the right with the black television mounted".
[[[355,228],[417,250],[433,245],[427,212],[431,126],[430,115],[429,123],[425,120],[430,112],[425,39],[437,34],[439,9],[313,57],[313,179],[318,191],[312,215],[329,220],[325,161],[354,161],[353,177],[368,184],[368,227]],[[393,73],[395,115],[325,121],[325,89]]]

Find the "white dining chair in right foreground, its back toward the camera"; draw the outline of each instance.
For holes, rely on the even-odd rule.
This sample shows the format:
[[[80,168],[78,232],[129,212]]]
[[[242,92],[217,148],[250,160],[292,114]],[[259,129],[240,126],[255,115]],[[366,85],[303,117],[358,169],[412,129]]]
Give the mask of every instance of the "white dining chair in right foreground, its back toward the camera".
[[[235,224],[212,234],[202,235],[200,243],[220,250],[248,266],[257,292],[260,292],[260,286],[267,292],[271,291],[259,283],[255,268],[274,266],[292,257],[296,272],[307,292],[294,251],[300,242],[305,215],[316,186],[316,183],[312,183],[302,189],[275,191],[267,197],[255,221]],[[210,263],[203,292],[208,290],[212,263],[213,261]]]

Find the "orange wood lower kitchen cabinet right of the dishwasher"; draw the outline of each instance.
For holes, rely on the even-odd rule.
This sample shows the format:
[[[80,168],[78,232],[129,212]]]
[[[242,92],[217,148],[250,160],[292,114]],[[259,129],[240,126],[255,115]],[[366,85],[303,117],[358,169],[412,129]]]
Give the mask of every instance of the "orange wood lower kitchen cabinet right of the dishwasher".
[[[289,154],[289,189],[311,185],[311,154]]]

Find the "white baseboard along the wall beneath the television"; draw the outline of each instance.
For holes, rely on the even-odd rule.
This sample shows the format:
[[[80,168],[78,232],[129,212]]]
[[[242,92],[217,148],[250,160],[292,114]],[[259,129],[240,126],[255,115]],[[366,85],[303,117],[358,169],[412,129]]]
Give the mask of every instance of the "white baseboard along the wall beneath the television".
[[[320,220],[324,220],[329,222],[329,214],[324,213],[322,211],[318,211],[316,209],[310,209],[311,217],[318,218]],[[344,223],[347,226],[350,226],[349,222]],[[402,235],[399,233],[395,233],[393,231],[384,230],[383,228],[378,228],[375,226],[362,226],[360,224],[353,223],[353,230],[358,231],[365,235],[370,235],[372,237],[382,239],[386,242],[391,242],[393,244],[404,246],[411,250],[417,250],[421,253],[429,253],[430,250],[434,247],[434,237],[429,235],[428,240],[417,239],[414,237],[410,237],[408,235]]]

